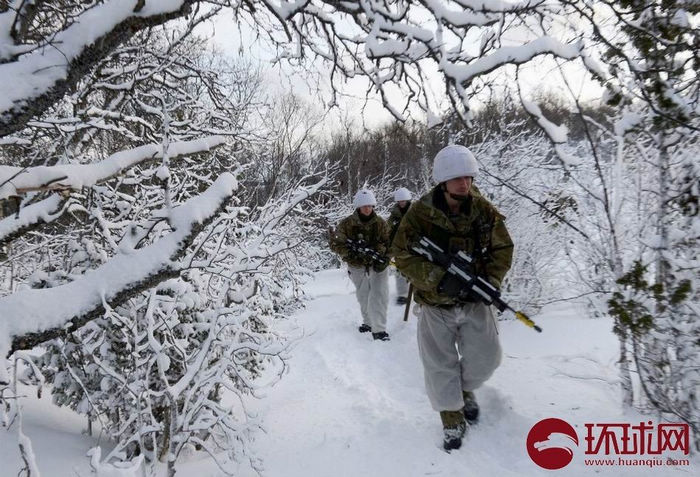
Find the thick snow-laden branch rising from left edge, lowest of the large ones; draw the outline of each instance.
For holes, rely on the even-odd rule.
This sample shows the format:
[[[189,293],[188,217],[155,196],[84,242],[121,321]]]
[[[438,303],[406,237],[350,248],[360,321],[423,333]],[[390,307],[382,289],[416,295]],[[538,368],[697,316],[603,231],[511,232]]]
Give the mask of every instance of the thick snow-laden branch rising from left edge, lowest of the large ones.
[[[0,359],[63,336],[99,316],[104,303],[119,304],[136,293],[180,272],[175,260],[226,205],[237,188],[225,173],[202,195],[176,207],[170,217],[174,231],[128,255],[118,255],[68,284],[23,290],[0,299]],[[0,381],[7,381],[0,363]]]

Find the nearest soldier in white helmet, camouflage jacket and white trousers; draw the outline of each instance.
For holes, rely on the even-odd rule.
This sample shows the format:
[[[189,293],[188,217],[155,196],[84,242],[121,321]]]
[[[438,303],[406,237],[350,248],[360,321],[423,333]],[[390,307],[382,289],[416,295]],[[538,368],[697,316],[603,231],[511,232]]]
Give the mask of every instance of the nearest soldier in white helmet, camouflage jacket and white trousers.
[[[412,247],[425,237],[448,253],[475,259],[477,275],[500,288],[511,265],[513,242],[505,217],[473,186],[479,167],[464,146],[447,146],[433,162],[434,189],[413,203],[391,247],[396,266],[410,280],[418,303],[418,349],[425,386],[440,413],[445,450],[458,449],[477,422],[474,390],[501,362],[492,309],[463,282]]]

